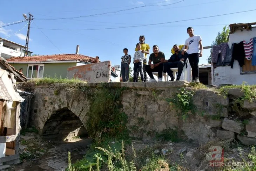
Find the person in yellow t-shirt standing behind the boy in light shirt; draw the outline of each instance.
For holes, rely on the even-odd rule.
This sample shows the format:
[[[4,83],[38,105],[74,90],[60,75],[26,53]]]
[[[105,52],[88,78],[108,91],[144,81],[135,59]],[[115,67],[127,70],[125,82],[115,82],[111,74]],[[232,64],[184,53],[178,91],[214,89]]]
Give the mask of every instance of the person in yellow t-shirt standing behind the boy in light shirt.
[[[141,45],[142,52],[145,53],[145,59],[143,60],[143,75],[144,75],[144,82],[146,82],[147,72],[145,70],[145,66],[147,65],[147,54],[149,54],[150,47],[147,43],[145,43],[145,37],[143,35],[140,36],[140,45]],[[135,48],[135,51],[137,51],[137,47]],[[139,70],[137,70],[136,72],[136,82],[138,81],[139,81]]]

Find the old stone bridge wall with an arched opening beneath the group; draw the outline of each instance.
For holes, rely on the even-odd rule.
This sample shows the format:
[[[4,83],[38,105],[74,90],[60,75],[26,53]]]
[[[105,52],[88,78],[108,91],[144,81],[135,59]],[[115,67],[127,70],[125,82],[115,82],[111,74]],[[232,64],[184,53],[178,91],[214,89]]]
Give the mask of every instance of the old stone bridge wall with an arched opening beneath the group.
[[[187,87],[188,84],[184,81],[80,84],[79,88],[83,92],[74,91],[74,87],[65,84],[35,86],[31,125],[39,129],[41,134],[54,131],[49,129],[49,120],[53,115],[56,116],[56,111],[65,109],[78,117],[86,129],[86,123],[90,119],[87,115],[90,97],[93,97],[103,85],[113,89],[127,87],[122,91],[120,110],[128,116],[127,127],[133,137],[151,138],[155,133],[170,128],[177,130],[179,136],[198,142],[208,142],[216,138],[221,140],[235,138],[243,144],[256,144],[255,102],[244,101],[242,107],[250,112],[250,117],[242,121],[230,111],[232,97],[243,95],[241,90],[229,91],[228,97],[218,95],[209,88],[193,90],[195,113],[182,119],[177,115],[180,111],[169,105],[166,99],[175,98],[181,87],[186,87],[185,91],[191,91],[192,88]],[[59,115],[62,113],[59,112]],[[69,119],[64,120],[68,123]],[[71,125],[77,124],[73,122],[70,120]],[[51,121],[50,125],[57,129],[57,123]]]

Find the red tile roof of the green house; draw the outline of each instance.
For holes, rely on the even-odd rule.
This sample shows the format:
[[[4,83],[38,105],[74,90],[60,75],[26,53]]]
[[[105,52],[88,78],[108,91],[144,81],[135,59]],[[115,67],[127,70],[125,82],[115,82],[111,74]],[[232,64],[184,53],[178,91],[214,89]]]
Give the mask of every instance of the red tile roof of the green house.
[[[12,57],[6,59],[8,62],[26,62],[26,61],[61,61],[61,60],[80,60],[83,62],[95,63],[96,59],[93,57],[77,54],[59,54],[59,55],[42,55],[42,56],[27,56],[27,57]]]

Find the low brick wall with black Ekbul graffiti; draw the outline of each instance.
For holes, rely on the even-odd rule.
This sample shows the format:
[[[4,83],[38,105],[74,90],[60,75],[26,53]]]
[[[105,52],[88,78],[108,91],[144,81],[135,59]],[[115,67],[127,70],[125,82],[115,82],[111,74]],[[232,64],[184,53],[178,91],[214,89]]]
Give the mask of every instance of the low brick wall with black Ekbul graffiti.
[[[89,83],[110,82],[111,62],[99,62],[68,68],[69,79],[78,78]]]

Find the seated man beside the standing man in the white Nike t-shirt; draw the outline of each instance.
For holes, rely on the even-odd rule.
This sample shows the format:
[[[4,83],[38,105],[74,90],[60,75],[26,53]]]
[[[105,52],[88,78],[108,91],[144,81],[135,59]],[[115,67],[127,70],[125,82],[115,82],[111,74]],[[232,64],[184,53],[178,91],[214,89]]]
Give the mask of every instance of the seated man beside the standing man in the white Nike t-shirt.
[[[164,60],[163,68],[164,71],[166,71],[168,75],[171,77],[171,81],[173,81],[175,78],[173,76],[173,71],[171,71],[171,68],[178,68],[178,75],[176,81],[179,81],[183,67],[186,64],[188,54],[184,53],[184,55],[182,55],[182,51],[180,51],[177,44],[173,46],[173,50],[175,51],[175,54],[171,55],[170,59]]]

